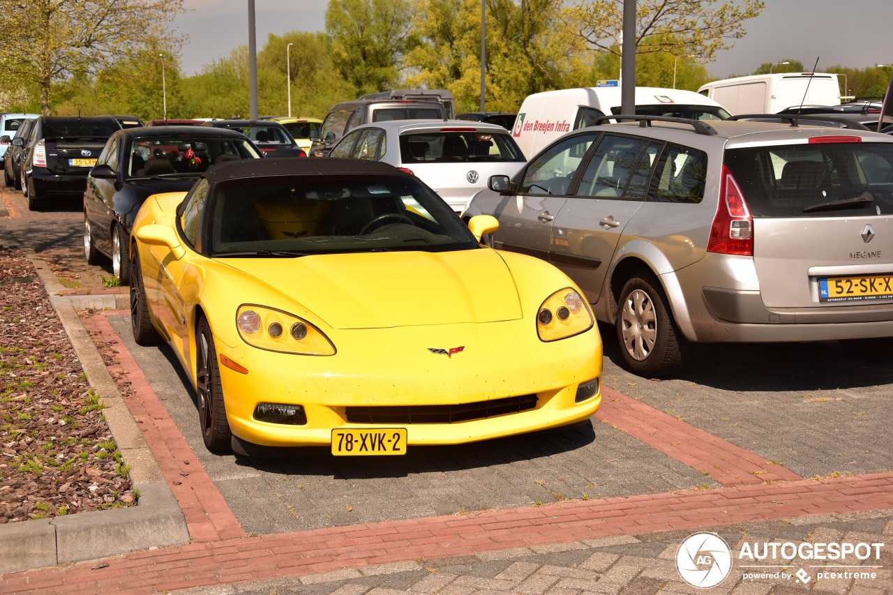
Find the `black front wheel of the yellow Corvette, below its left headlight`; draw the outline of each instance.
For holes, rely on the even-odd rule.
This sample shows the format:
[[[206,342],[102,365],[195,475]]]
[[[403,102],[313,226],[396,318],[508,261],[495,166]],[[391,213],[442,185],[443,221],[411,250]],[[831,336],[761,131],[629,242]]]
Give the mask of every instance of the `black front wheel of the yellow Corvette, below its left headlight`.
[[[198,321],[196,330],[196,358],[198,420],[204,446],[211,452],[229,452],[230,423],[223,403],[220,366],[211,327],[204,318]]]

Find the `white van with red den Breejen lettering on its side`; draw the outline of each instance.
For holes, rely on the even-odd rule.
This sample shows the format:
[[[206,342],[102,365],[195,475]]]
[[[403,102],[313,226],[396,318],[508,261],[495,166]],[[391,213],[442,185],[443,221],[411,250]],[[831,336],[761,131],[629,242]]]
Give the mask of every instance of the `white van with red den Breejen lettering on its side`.
[[[636,113],[698,120],[725,120],[730,113],[713,99],[678,88],[637,87]],[[564,88],[527,96],[512,136],[527,159],[565,132],[588,126],[598,116],[620,113],[621,88]]]

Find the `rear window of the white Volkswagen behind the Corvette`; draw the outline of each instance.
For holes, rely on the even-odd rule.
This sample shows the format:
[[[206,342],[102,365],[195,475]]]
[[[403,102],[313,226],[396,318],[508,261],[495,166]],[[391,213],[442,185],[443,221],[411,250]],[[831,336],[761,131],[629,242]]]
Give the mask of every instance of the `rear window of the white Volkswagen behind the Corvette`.
[[[524,161],[508,133],[425,132],[400,137],[403,163],[485,163]]]

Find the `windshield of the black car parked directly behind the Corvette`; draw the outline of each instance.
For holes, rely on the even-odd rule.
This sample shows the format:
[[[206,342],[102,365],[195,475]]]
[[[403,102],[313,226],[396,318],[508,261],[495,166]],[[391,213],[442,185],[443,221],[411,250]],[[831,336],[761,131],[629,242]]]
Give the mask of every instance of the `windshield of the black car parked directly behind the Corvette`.
[[[214,163],[261,156],[242,138],[188,136],[134,138],[125,155],[128,178],[196,175]]]

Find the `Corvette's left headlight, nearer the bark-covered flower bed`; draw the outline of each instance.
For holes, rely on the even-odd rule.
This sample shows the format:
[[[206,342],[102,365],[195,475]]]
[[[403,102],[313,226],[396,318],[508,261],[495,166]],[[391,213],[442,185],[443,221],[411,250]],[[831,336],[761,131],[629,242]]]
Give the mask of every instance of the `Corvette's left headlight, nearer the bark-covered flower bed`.
[[[335,346],[313,324],[274,308],[238,306],[236,327],[242,340],[258,349],[304,356],[335,355]]]

